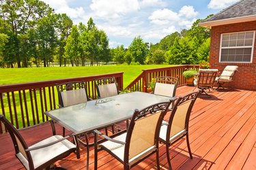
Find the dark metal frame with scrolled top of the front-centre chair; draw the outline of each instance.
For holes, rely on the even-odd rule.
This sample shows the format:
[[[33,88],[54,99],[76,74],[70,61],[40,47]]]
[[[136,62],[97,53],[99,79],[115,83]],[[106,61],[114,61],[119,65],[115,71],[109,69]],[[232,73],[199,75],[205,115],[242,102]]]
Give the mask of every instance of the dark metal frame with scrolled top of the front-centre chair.
[[[105,139],[109,140],[109,141],[113,141],[116,143],[120,143],[125,145],[124,146],[124,161],[120,160],[117,156],[115,156],[115,154],[113,154],[110,150],[108,150],[107,148],[104,148],[103,146],[101,148],[98,148],[97,143],[95,143],[94,145],[94,169],[97,169],[97,161],[98,161],[98,151],[100,150],[106,150],[106,152],[108,152],[109,154],[111,154],[114,158],[116,158],[117,160],[119,160],[120,163],[122,163],[124,165],[124,169],[130,169],[132,167],[134,167],[135,165],[137,165],[138,163],[140,163],[141,161],[145,160],[145,158],[148,158],[149,156],[151,156],[152,154],[156,153],[156,163],[157,163],[157,169],[160,169],[160,161],[159,161],[159,153],[158,153],[158,138],[159,138],[159,133],[160,133],[160,126],[162,123],[163,118],[165,117],[165,114],[168,111],[169,105],[171,105],[172,101],[169,102],[163,102],[163,103],[156,103],[154,105],[150,105],[149,107],[146,107],[145,109],[141,109],[141,111],[139,111],[138,109],[134,110],[134,114],[130,120],[130,124],[129,127],[127,129],[127,135],[126,135],[126,141],[117,141],[115,139],[112,139],[111,137],[108,137],[102,133],[100,133],[99,131],[94,131],[95,135],[94,137],[97,138],[97,134],[104,137]],[[154,136],[154,146],[155,146],[155,150],[152,151],[151,153],[147,154],[145,157],[141,158],[140,160],[138,160],[136,163],[130,165],[129,164],[129,149],[130,149],[130,139],[132,137],[132,131],[134,130],[134,125],[135,125],[135,121],[141,119],[141,118],[145,118],[146,116],[150,115],[150,114],[155,114],[156,112],[161,111],[161,114],[159,116],[158,122],[156,124],[156,131],[155,131],[155,136]]]

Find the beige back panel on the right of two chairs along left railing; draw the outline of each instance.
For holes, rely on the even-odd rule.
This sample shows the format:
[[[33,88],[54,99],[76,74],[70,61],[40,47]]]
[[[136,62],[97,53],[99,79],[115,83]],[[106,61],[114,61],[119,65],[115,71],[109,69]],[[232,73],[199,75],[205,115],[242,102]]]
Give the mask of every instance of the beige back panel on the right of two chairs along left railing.
[[[118,95],[117,85],[115,83],[98,85],[98,90],[100,92],[100,98]]]

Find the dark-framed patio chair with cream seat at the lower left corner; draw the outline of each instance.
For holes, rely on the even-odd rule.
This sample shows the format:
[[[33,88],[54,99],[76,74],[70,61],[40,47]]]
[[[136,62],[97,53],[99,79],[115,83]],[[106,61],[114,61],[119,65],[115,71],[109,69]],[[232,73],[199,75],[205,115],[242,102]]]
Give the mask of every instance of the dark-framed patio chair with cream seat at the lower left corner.
[[[27,146],[25,139],[4,116],[0,115],[0,120],[12,137],[16,158],[26,169],[50,169],[57,160],[66,158],[73,152],[76,158],[80,158],[78,140],[75,135],[72,135],[75,144],[67,139],[69,136],[53,135],[32,146]]]

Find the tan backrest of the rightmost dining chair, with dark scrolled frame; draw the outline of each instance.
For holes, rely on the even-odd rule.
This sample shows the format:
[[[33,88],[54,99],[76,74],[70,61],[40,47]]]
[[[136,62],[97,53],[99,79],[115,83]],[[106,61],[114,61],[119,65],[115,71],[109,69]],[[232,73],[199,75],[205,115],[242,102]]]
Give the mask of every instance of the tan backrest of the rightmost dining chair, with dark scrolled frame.
[[[176,135],[178,137],[188,131],[190,113],[198,95],[199,92],[191,92],[177,99],[169,117],[167,141],[169,141],[170,137],[175,139]]]

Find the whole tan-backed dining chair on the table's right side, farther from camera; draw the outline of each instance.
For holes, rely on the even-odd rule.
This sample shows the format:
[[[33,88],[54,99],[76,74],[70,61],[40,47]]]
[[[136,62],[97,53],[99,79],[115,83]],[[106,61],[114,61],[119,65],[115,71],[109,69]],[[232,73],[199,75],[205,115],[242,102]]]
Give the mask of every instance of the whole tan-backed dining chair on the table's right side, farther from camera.
[[[186,136],[186,144],[190,158],[193,158],[189,140],[188,140],[188,122],[193,105],[199,95],[199,92],[191,92],[188,95],[179,97],[169,115],[167,122],[162,121],[160,128],[159,140],[166,145],[166,154],[169,169],[171,169],[171,158],[169,154],[169,146],[173,145]]]

